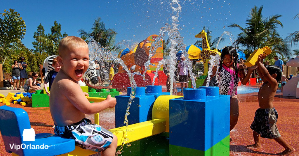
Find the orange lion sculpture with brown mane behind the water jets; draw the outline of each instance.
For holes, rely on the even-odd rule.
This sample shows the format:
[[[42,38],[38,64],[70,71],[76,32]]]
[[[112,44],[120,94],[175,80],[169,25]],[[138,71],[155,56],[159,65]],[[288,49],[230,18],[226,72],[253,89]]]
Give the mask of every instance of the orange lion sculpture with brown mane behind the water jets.
[[[136,65],[134,72],[144,71],[144,63],[148,61],[149,50],[152,46],[152,41],[154,41],[157,36],[158,35],[150,35],[147,39],[141,41],[138,44],[137,48],[135,48],[135,52],[131,50],[129,53],[125,55],[122,55],[120,52],[118,56],[123,60],[124,64],[128,67],[128,69]],[[118,68],[118,72],[123,73],[125,72],[125,70],[122,66],[120,66]]]

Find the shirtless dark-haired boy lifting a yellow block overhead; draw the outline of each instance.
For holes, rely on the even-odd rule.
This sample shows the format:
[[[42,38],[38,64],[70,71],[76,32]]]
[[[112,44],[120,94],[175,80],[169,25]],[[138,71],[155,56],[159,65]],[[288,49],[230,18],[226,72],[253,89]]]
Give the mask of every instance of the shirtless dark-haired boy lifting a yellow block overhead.
[[[254,121],[250,126],[253,132],[254,144],[246,147],[261,148],[260,137],[269,138],[274,139],[285,148],[283,152],[277,153],[277,155],[290,155],[296,150],[286,143],[279,134],[276,126],[278,114],[273,105],[273,98],[281,79],[281,69],[275,65],[263,66],[262,62],[266,56],[259,55],[256,63],[258,66],[257,72],[264,83],[257,95],[260,108],[255,112]]]

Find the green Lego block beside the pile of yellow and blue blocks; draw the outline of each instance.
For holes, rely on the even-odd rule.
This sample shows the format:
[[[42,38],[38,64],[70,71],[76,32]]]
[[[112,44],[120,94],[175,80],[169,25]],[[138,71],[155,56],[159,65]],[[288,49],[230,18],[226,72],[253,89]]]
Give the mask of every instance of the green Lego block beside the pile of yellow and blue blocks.
[[[43,92],[32,94],[32,107],[49,107],[49,96]]]

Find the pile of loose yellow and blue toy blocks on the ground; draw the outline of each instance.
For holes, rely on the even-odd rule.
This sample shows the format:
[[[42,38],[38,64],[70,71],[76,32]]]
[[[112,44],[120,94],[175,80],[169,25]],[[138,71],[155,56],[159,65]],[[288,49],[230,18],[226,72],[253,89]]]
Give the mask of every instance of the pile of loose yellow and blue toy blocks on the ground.
[[[32,104],[32,93],[11,93],[9,92],[8,95],[5,97],[3,94],[0,94],[0,103],[5,105],[10,104]]]

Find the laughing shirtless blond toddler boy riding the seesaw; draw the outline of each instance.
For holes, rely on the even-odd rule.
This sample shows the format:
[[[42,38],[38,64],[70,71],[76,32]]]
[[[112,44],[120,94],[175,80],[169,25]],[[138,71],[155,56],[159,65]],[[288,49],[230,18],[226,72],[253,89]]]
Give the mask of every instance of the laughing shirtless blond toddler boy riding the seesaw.
[[[102,156],[115,155],[117,137],[103,127],[92,124],[85,114],[95,114],[113,108],[116,99],[108,95],[102,102],[90,103],[78,81],[89,67],[87,43],[79,37],[67,36],[58,46],[57,61],[61,66],[50,94],[50,112],[56,135],[73,138],[83,149],[102,152]]]

